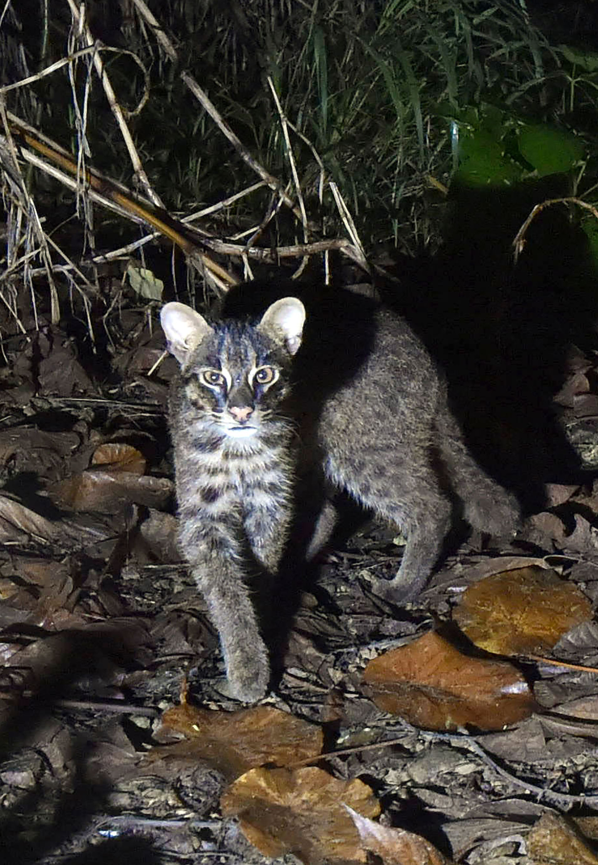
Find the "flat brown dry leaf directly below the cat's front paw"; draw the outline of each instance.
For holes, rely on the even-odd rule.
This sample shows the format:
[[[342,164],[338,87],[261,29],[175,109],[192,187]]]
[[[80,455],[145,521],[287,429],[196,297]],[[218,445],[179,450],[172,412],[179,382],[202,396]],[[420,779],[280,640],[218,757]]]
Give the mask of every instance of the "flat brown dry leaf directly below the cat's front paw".
[[[161,737],[169,732],[187,737],[185,756],[207,760],[227,779],[254,766],[286,766],[322,753],[320,727],[273,706],[211,712],[183,702],[164,712]]]

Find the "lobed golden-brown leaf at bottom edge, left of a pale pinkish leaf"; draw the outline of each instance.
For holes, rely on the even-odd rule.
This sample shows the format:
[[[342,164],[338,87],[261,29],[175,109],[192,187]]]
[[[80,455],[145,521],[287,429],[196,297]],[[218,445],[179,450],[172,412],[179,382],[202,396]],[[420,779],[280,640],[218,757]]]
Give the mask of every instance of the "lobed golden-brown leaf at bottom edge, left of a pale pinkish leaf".
[[[380,805],[363,781],[339,781],[315,767],[251,769],[221,799],[225,817],[239,817],[248,840],[267,856],[293,852],[306,865],[365,862],[344,805],[377,817]]]

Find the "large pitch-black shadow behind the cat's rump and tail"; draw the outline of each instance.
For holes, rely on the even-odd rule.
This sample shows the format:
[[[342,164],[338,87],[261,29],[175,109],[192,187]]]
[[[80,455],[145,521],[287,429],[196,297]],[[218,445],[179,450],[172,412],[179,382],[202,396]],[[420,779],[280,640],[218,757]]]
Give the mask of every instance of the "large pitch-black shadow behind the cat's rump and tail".
[[[551,176],[505,189],[454,185],[440,253],[397,258],[398,281],[378,285],[444,369],[473,456],[527,513],[543,509],[545,484],[588,479],[553,401],[571,345],[596,348],[588,239],[557,205],[531,222],[517,260],[513,250],[531,209],[567,184]]]

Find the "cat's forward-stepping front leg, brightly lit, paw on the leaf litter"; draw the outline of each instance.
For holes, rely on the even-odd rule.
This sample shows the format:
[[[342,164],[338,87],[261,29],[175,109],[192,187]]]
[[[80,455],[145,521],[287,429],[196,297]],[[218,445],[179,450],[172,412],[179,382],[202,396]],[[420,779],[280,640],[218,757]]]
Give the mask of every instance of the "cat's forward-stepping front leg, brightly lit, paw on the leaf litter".
[[[179,541],[220,637],[228,693],[255,702],[266,693],[270,663],[245,581],[240,521],[181,517]]]

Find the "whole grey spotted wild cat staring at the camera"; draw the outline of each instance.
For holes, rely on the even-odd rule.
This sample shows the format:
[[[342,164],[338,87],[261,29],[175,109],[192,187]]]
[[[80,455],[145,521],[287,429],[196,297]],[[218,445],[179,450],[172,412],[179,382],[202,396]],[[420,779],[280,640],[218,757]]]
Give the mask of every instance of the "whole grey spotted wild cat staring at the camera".
[[[407,536],[398,573],[380,581],[397,602],[425,586],[455,509],[492,535],[518,521],[514,497],[468,452],[445,381],[404,319],[349,291],[301,297],[307,316],[302,299],[267,305],[257,289],[258,316],[209,322],[179,303],[161,313],[180,364],[170,395],[179,542],[229,691],[246,702],[270,677],[249,578],[278,570],[305,454],[327,484]],[[323,514],[310,554],[331,529],[329,505]]]

